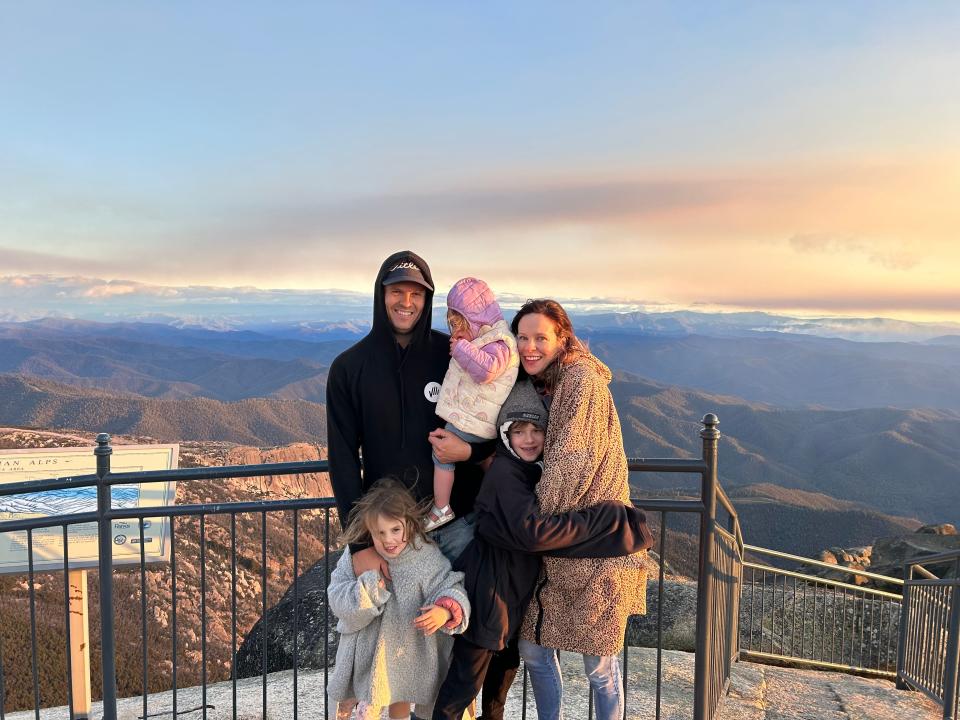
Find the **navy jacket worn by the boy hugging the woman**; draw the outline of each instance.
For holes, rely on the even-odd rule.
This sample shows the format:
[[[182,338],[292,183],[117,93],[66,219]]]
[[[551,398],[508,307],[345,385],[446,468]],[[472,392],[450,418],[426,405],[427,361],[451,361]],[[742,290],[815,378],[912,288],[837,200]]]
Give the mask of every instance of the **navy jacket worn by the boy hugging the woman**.
[[[585,510],[542,516],[538,463],[515,457],[502,443],[477,495],[476,536],[454,563],[470,598],[463,637],[503,649],[520,628],[540,575],[540,556],[609,558],[653,545],[641,510],[608,501]]]

